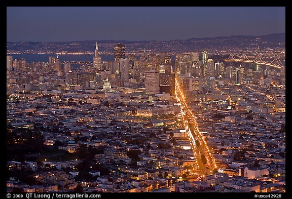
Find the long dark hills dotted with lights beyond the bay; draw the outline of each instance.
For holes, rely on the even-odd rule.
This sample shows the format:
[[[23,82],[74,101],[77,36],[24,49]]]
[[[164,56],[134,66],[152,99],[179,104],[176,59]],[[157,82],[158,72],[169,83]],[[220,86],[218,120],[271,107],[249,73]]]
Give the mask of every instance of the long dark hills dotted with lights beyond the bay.
[[[114,53],[114,46],[123,43],[127,52],[151,50],[152,52],[186,52],[206,50],[253,50],[266,48],[285,48],[285,33],[261,36],[232,35],[205,38],[190,38],[172,41],[72,41],[72,42],[7,42],[7,53],[94,53],[98,42],[100,53]]]

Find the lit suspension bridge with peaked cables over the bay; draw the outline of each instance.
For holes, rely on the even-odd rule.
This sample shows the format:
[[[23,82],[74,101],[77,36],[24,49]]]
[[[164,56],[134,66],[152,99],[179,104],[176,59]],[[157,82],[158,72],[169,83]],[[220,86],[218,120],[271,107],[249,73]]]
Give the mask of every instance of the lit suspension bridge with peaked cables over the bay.
[[[278,57],[274,58],[274,60],[269,63],[263,59],[261,54],[258,54],[258,56],[255,57],[255,59],[253,59],[253,60],[248,59],[248,57],[245,55],[245,53],[243,53],[238,59],[236,59],[235,56],[236,55],[234,55],[234,54],[230,54],[229,58],[226,59],[225,61],[227,61],[227,62],[229,61],[229,62],[258,63],[258,64],[267,65],[267,66],[272,66],[275,68],[283,68],[284,67],[284,65],[281,63],[281,61]]]

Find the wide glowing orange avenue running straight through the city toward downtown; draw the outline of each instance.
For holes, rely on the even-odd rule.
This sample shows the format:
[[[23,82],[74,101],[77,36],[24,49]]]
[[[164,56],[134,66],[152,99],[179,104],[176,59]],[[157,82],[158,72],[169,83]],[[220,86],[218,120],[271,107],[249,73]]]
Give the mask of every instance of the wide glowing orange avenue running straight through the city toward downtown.
[[[204,136],[201,134],[196,116],[192,113],[190,108],[187,105],[184,95],[180,89],[177,78],[175,78],[175,96],[177,102],[181,104],[180,112],[181,112],[181,122],[184,128],[186,129],[189,139],[192,143],[192,148],[194,152],[194,159],[196,164],[194,165],[195,174],[206,175],[211,174],[215,168],[217,168],[214,158],[210,153],[208,145],[204,139]],[[202,155],[205,156],[202,158]]]

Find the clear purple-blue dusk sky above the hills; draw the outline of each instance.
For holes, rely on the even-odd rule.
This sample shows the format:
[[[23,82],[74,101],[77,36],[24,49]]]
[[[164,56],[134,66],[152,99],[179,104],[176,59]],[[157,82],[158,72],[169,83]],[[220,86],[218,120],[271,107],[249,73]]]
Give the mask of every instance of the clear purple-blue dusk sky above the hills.
[[[188,39],[285,32],[285,7],[7,7],[7,41]]]

